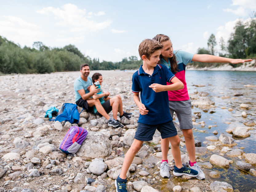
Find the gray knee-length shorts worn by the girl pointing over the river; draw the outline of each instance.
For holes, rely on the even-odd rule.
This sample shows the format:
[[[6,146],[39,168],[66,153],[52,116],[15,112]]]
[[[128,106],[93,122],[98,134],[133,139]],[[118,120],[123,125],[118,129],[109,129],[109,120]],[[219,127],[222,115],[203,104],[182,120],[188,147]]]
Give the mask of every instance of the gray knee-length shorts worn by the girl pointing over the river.
[[[169,101],[169,110],[171,117],[175,112],[181,129],[192,129],[192,110],[190,100],[186,101]]]

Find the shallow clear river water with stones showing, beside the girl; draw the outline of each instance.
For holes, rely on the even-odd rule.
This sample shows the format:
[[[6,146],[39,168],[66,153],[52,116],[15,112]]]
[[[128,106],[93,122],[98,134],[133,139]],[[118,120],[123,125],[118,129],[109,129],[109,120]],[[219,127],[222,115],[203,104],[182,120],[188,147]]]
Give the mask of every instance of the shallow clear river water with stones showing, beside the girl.
[[[256,85],[256,73],[255,72],[242,72],[242,71],[186,71],[186,82],[189,88],[189,94],[194,93],[194,90],[206,91],[209,93],[207,96],[215,102],[215,111],[216,113],[210,114],[209,112],[205,113],[199,108],[194,107],[192,109],[192,114],[194,111],[201,111],[201,118],[199,121],[205,121],[205,128],[201,128],[201,125],[194,126],[198,130],[205,130],[205,133],[199,131],[194,131],[194,137],[200,139],[202,142],[207,141],[206,136],[213,135],[214,130],[218,131],[217,137],[221,133],[225,133],[232,137],[231,134],[226,133],[226,129],[229,126],[243,125],[243,122],[247,120],[254,120],[256,122],[256,87],[245,87],[244,85]],[[194,85],[203,84],[204,87],[195,87]],[[240,92],[243,96],[234,97],[235,92]],[[222,96],[230,96],[230,98],[222,98]],[[251,109],[246,110],[240,108],[240,104],[245,103],[251,107]],[[226,109],[221,109],[224,106]],[[232,112],[228,111],[228,107],[233,108]],[[247,118],[242,117],[242,111],[245,111]],[[197,120],[198,121],[198,120]],[[231,124],[226,124],[226,122],[231,122]],[[208,126],[216,125],[208,129]],[[246,153],[256,153],[256,128],[250,130],[250,137],[248,138],[234,138],[238,145],[234,146],[233,149],[244,147],[244,152]],[[207,144],[202,146],[206,147]],[[207,153],[203,157],[204,160],[210,159],[210,156],[214,154]],[[229,182],[234,189],[239,191],[250,191],[252,189],[256,190],[256,178],[250,174],[239,171],[236,168],[236,161],[239,161],[239,158],[230,158],[224,155],[225,158],[231,159],[234,163],[230,164],[228,169],[218,169],[213,167],[213,170],[221,173],[220,178],[215,180]],[[253,167],[256,168],[255,166]]]

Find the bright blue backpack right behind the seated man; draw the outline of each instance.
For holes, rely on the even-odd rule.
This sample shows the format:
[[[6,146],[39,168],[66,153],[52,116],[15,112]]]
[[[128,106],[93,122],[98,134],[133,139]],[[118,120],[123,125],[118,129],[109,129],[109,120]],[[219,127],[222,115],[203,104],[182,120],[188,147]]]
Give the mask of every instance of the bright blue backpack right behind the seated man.
[[[64,103],[61,108],[62,114],[59,114],[55,121],[68,121],[71,124],[72,123],[78,123],[79,122],[79,113],[77,110],[77,105],[73,103]]]

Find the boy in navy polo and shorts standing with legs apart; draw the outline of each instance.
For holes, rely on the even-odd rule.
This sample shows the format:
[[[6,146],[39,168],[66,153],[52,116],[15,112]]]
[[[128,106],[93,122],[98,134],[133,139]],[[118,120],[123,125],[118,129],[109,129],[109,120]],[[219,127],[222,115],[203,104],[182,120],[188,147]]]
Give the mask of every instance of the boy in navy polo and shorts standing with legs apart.
[[[180,138],[170,116],[167,90],[180,90],[184,85],[166,66],[158,65],[162,48],[161,43],[152,39],[145,39],[139,45],[143,65],[133,74],[132,91],[140,116],[134,141],[125,155],[121,174],[115,180],[117,192],[127,192],[126,173],[143,142],[151,141],[156,129],[161,132],[162,138],[168,138],[172,144],[171,150],[175,161],[174,175],[185,174],[192,177],[198,175],[197,171],[182,165]],[[166,82],[173,84],[166,85]],[[141,92],[141,102],[139,92]]]

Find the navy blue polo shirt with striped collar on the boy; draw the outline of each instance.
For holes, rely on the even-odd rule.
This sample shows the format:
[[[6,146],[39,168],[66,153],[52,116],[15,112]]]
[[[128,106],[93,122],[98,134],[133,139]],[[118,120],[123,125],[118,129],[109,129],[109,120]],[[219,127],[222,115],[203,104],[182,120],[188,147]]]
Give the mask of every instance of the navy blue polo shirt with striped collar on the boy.
[[[166,85],[175,75],[164,65],[154,67],[151,75],[145,73],[142,65],[132,76],[132,91],[140,92],[141,102],[148,110],[148,114],[139,116],[138,122],[148,125],[156,125],[171,121],[167,91],[154,92],[149,86],[153,83]]]

